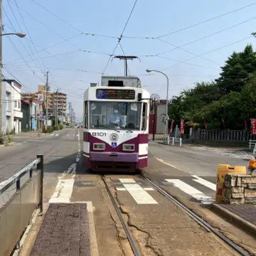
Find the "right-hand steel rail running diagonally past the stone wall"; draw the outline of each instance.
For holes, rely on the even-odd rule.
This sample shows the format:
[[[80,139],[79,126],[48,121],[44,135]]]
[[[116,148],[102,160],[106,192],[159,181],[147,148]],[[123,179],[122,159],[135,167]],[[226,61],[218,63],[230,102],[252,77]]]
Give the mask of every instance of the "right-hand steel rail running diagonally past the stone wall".
[[[236,250],[237,252],[240,253],[240,255],[243,256],[250,256],[247,252],[245,252],[245,250],[242,250],[241,247],[239,247],[238,245],[235,245],[234,242],[232,242],[231,240],[229,240],[228,238],[225,237],[225,235],[221,234],[220,232],[218,232],[217,230],[215,230],[211,225],[209,225],[205,220],[203,220],[202,218],[200,218],[198,215],[196,215],[196,213],[193,213],[192,210],[188,209],[186,206],[183,205],[183,203],[179,202],[176,198],[174,198],[173,196],[171,196],[169,193],[167,193],[166,191],[164,191],[163,188],[160,188],[159,186],[157,186],[153,181],[151,181],[149,178],[146,178],[144,176],[142,176],[142,178],[144,178],[146,181],[148,181],[154,188],[156,188],[157,191],[159,191],[159,193],[161,193],[163,196],[166,196],[166,198],[168,198],[169,200],[171,200],[172,202],[174,202],[177,206],[179,206],[180,208],[182,208],[183,210],[186,211],[186,213],[188,213],[188,215],[192,216],[193,219],[196,219],[197,222],[201,223],[201,225],[203,225],[203,227],[208,228],[208,230],[210,230],[212,233],[214,233],[215,235],[218,236],[218,238],[220,238],[221,240],[223,240],[224,242],[226,242],[230,247],[232,247],[234,250]]]

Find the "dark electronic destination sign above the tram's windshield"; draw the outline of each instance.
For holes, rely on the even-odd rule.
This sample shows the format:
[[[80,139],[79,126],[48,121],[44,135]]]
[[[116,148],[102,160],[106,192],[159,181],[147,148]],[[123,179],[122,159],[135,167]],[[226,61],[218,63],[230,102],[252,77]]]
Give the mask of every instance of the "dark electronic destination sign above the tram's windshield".
[[[107,100],[134,100],[135,91],[117,89],[97,89],[96,98]]]

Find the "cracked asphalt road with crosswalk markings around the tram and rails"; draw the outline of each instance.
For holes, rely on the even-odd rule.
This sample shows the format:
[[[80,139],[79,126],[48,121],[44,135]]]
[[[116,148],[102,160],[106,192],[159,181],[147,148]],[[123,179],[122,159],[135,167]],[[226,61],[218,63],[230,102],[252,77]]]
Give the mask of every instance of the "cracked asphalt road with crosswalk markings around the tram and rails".
[[[0,149],[2,180],[35,159],[36,154],[44,154],[44,203],[90,203],[94,217],[93,221],[89,220],[89,223],[94,223],[94,228],[90,228],[91,255],[133,255],[101,176],[93,174],[83,164],[80,151],[82,130],[64,129],[41,139],[19,138],[16,141],[15,146]],[[149,165],[144,174],[166,191],[198,208],[207,196],[214,198],[215,191],[206,186],[206,181],[214,185],[219,163],[237,165],[245,164],[246,161],[150,142]],[[203,178],[203,182],[194,181],[198,178],[193,175]],[[161,196],[141,176],[106,174],[106,178],[142,255],[236,255]],[[202,200],[193,198],[189,189],[183,191],[179,183],[174,186],[174,183],[166,180],[183,181],[200,190],[205,197],[201,195]],[[126,182],[129,182],[128,186]],[[221,223],[220,220],[217,222]],[[250,247],[256,247],[253,239],[240,235],[238,230],[230,228],[225,221],[223,227],[229,228],[228,234],[235,233],[237,241],[241,239]],[[35,225],[35,229],[39,228],[39,225]],[[36,234],[33,231],[32,237]],[[29,255],[33,247],[33,238],[28,241],[31,243],[26,243],[25,255]]]

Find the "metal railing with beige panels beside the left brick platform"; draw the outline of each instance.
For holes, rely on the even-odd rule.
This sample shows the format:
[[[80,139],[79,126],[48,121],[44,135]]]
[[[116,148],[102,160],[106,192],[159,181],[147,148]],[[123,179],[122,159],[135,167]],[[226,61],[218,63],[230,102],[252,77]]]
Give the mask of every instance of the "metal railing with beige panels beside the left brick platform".
[[[29,177],[23,181],[26,174]],[[43,213],[43,155],[38,155],[31,164],[0,183],[0,197],[11,192],[9,199],[0,206],[1,256],[9,256],[19,248],[21,236],[34,210],[40,208]]]

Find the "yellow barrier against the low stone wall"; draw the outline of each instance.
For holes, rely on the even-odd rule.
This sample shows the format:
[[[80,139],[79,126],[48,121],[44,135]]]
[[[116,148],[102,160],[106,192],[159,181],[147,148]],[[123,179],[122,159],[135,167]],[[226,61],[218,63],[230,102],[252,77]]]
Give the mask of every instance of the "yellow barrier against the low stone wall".
[[[230,166],[228,164],[218,165],[215,198],[216,203],[220,203],[223,199],[223,188],[226,174],[246,174],[246,166]]]

